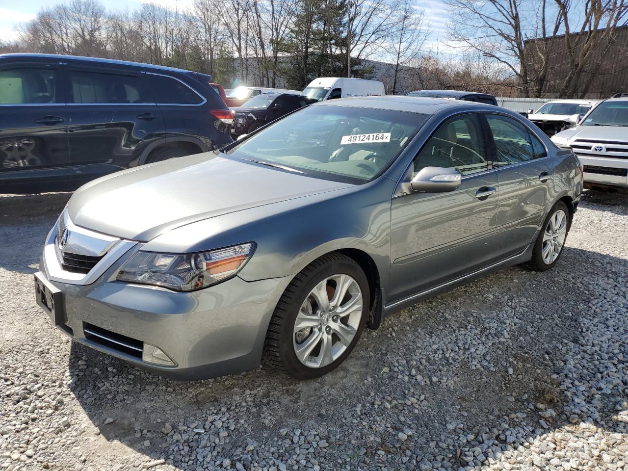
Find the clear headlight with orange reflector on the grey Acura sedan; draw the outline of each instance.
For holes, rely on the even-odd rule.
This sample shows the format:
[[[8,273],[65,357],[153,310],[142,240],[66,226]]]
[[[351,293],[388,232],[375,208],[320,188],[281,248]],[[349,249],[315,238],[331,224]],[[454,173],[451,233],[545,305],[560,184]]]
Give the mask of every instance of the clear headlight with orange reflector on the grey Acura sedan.
[[[195,254],[139,251],[122,266],[117,279],[175,291],[200,290],[236,276],[254,250],[255,244],[249,242]]]

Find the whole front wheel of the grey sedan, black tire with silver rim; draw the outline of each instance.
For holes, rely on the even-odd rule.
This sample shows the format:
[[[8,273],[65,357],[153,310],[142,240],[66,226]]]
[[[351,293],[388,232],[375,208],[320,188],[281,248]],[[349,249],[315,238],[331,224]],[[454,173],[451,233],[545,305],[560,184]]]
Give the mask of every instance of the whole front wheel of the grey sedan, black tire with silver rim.
[[[323,285],[324,290],[313,294]],[[340,300],[333,296],[337,286],[346,286]],[[325,298],[330,303],[328,309],[318,306],[317,300],[324,304]],[[296,379],[314,379],[336,369],[362,335],[369,299],[369,282],[353,259],[332,252],[313,261],[295,276],[277,303],[266,333],[264,360]],[[300,326],[310,327],[297,331],[297,317]]]

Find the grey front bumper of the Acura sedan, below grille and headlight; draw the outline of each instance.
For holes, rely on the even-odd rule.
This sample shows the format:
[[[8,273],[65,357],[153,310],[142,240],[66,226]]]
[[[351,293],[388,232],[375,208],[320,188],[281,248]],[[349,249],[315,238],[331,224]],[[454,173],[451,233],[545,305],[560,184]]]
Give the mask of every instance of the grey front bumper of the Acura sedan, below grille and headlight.
[[[93,349],[184,381],[259,366],[266,330],[290,277],[247,282],[236,276],[192,293],[116,281],[119,267],[135,251],[121,256],[93,283],[75,284],[59,281],[58,273],[50,279],[46,256],[51,251],[46,254],[45,249],[39,276],[61,291],[57,327],[62,332]],[[144,361],[144,344],[158,347],[176,365]]]

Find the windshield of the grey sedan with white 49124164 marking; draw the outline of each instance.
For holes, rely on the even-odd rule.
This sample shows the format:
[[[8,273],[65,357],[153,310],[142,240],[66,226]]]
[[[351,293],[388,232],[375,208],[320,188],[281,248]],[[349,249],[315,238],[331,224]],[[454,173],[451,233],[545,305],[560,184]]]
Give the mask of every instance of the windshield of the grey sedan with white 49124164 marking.
[[[428,115],[347,106],[310,106],[227,151],[306,175],[368,181],[399,154]]]

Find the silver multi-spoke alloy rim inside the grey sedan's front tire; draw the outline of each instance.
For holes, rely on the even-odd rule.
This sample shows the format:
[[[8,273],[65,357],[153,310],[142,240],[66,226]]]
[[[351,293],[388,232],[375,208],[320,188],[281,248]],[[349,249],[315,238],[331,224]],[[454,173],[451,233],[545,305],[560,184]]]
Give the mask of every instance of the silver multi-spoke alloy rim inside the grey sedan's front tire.
[[[293,346],[310,368],[325,367],[351,345],[362,318],[362,291],[354,278],[334,274],[318,283],[296,315]]]

